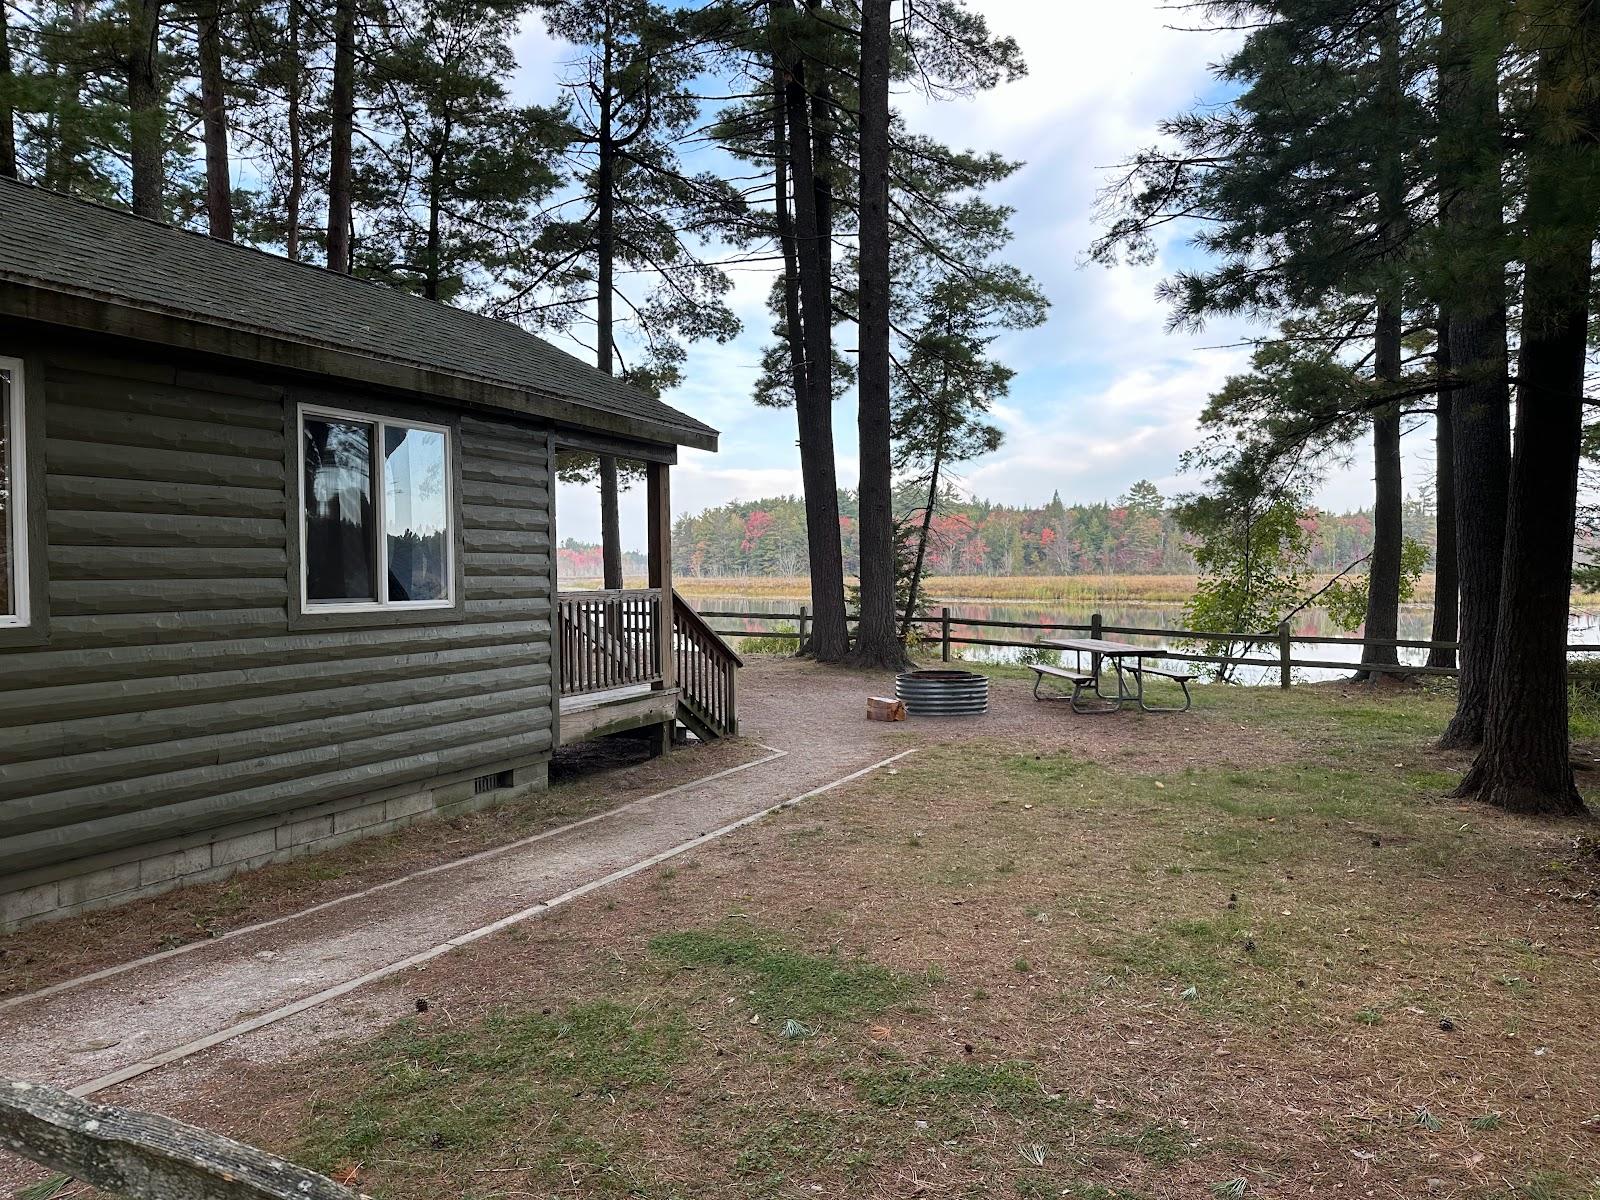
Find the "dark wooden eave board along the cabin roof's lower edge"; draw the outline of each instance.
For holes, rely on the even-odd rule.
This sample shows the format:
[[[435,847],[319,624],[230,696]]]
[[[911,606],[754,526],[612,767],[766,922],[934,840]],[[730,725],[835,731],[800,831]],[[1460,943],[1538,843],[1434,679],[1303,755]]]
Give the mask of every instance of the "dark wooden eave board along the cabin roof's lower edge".
[[[0,275],[0,315],[56,325],[112,338],[261,363],[333,379],[349,379],[386,390],[411,392],[461,405],[498,408],[592,429],[640,442],[694,450],[717,450],[717,430],[674,426],[592,408],[549,392],[509,387],[490,379],[437,371],[416,363],[374,358],[336,346],[294,341],[264,330],[200,320],[189,314],[128,304],[53,286],[48,282]]]

